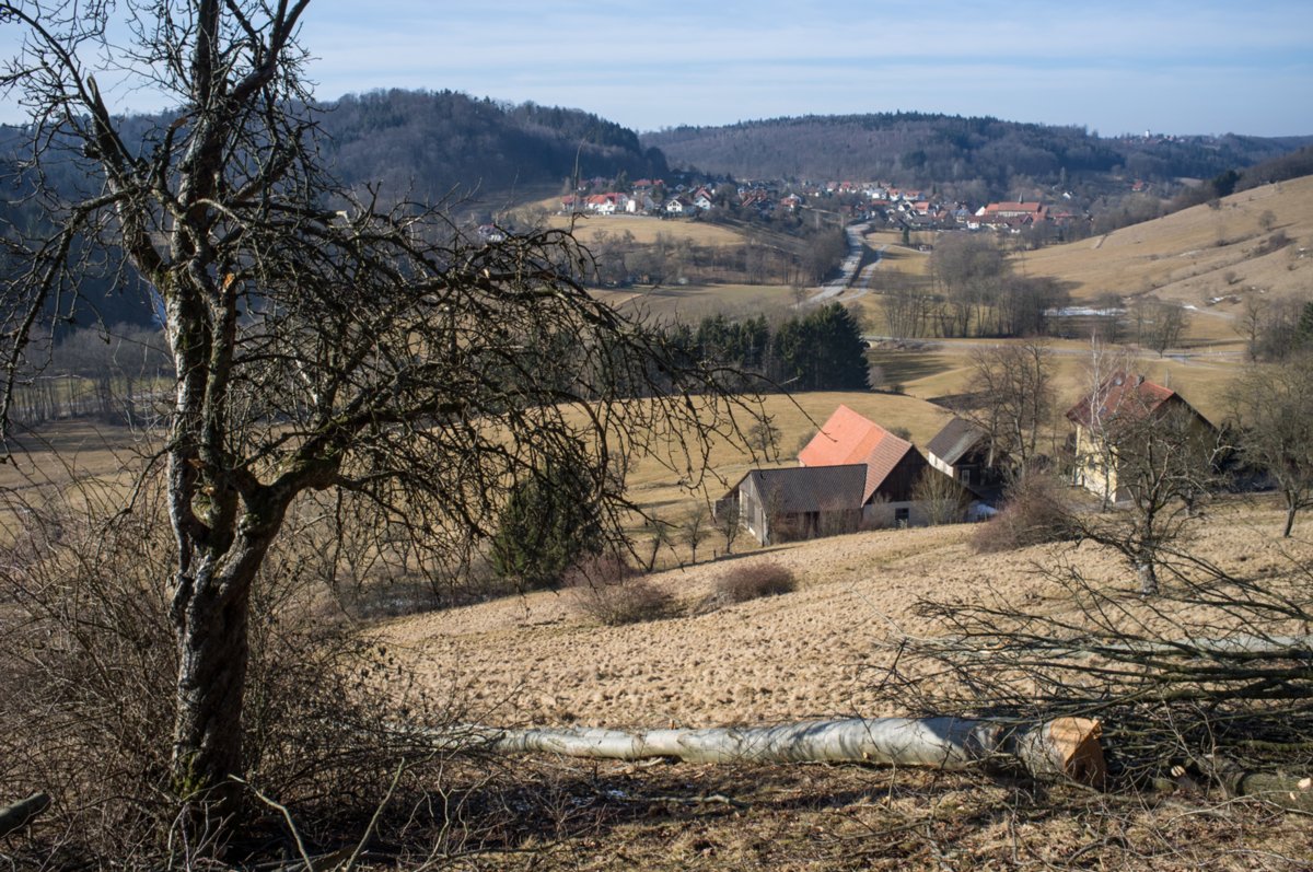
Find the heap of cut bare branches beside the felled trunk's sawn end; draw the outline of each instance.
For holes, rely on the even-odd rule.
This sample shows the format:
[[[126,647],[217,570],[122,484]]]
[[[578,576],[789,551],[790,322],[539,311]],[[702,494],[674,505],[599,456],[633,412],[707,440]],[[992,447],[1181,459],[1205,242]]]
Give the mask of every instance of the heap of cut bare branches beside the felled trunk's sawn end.
[[[1292,559],[1259,579],[1178,549],[1159,561],[1173,580],[1152,599],[1060,559],[1036,570],[1057,598],[1046,605],[987,583],[976,603],[926,600],[922,615],[944,633],[893,640],[901,657],[885,692],[918,712],[1099,717],[1121,784],[1171,779],[1174,767],[1213,779],[1230,766],[1306,775],[1308,566]]]

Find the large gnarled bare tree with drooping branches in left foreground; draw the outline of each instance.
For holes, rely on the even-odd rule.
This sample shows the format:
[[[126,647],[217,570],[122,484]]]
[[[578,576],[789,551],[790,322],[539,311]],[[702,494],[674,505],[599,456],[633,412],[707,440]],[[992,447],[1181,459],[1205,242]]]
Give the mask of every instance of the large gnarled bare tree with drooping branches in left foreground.
[[[470,246],[423,205],[335,186],[295,41],[307,5],[0,4],[22,32],[3,85],[30,113],[32,177],[72,162],[87,180],[39,188],[49,232],[4,229],[0,422],[43,315],[89,302],[76,252],[121,257],[161,301],[177,372],[159,583],[180,662],[167,787],[193,826],[239,812],[252,579],[298,495],[353,491],[450,552],[491,533],[517,474],[572,461],[618,531],[611,454],[662,447],[696,486],[706,437],[737,432],[712,373],[584,292],[567,234]],[[97,75],[175,109],[130,129]]]

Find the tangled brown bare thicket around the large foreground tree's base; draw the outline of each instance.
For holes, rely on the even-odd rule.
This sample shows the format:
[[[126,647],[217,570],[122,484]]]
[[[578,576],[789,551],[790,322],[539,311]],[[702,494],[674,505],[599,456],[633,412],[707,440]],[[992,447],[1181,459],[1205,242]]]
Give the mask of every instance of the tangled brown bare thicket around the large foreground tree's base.
[[[22,519],[0,544],[0,800],[56,798],[24,843],[33,865],[183,868],[193,855],[177,851],[218,847],[180,847],[173,831],[175,557],[160,494],[147,482],[118,515],[89,490],[77,494],[85,506],[0,498],[0,515]],[[364,831],[399,760],[431,752],[390,718],[403,707],[424,725],[452,714],[423,692],[394,696],[410,686],[395,659],[316,613],[315,565],[331,552],[318,544],[289,534],[252,591],[243,774],[310,843],[331,843]],[[397,791],[431,775],[415,767]],[[252,823],[235,856],[278,842],[264,826]]]

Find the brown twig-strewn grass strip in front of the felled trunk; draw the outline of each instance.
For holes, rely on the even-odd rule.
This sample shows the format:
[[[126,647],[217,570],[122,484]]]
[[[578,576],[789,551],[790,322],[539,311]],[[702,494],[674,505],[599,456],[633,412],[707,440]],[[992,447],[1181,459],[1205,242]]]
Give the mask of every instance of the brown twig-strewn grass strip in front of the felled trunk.
[[[509,766],[508,783],[469,796],[471,818],[490,825],[477,846],[467,844],[479,855],[475,868],[1115,863],[1140,872],[1165,861],[1208,865],[1216,852],[1275,835],[1274,827],[1281,826],[1259,805],[1200,802],[1207,814],[1180,816],[1179,802],[1155,809],[1138,795],[1053,788],[981,772],[566,759]],[[945,865],[947,858],[953,861]]]

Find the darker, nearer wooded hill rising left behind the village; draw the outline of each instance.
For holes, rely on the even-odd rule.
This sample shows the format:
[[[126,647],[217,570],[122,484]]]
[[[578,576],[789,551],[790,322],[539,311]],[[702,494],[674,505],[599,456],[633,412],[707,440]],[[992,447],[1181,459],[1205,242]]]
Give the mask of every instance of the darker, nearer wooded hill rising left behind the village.
[[[517,193],[559,189],[571,177],[632,179],[667,172],[659,150],[646,151],[638,135],[578,109],[511,105],[453,91],[386,91],[348,95],[315,113],[324,137],[323,165],[344,186],[373,186],[383,202],[412,200],[502,206]],[[121,130],[130,147],[148,155],[167,135],[171,114],[133,116]],[[42,235],[47,204],[35,196],[37,179],[26,169],[29,134],[0,125],[0,226]],[[92,156],[55,138],[42,165],[42,181],[63,197],[91,196]],[[467,215],[462,211],[458,218]],[[81,290],[97,299],[106,323],[144,324],[151,313],[113,256],[92,264]]]

